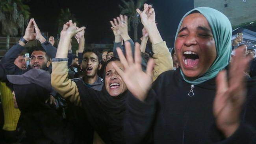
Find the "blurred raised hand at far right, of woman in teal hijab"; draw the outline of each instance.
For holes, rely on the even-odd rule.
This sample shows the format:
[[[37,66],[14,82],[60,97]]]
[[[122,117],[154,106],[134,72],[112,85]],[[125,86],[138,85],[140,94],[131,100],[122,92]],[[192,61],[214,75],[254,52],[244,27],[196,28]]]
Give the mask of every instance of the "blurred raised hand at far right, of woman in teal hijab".
[[[236,50],[228,71],[221,71],[217,78],[217,91],[213,114],[217,127],[226,137],[232,135],[240,124],[240,113],[246,98],[245,70],[250,58],[243,57],[243,50]]]

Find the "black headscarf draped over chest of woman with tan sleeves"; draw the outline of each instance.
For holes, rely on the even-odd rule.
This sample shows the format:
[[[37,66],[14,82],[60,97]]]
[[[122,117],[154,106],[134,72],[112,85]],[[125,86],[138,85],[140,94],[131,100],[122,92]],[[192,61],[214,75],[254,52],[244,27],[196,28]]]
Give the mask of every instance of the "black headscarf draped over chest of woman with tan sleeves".
[[[106,65],[111,61],[120,60],[112,57]],[[105,71],[106,67],[104,78]],[[88,89],[82,81],[77,81],[76,85],[85,113],[98,135],[105,143],[124,143],[123,119],[128,90],[119,96],[110,96],[105,83],[101,91]]]

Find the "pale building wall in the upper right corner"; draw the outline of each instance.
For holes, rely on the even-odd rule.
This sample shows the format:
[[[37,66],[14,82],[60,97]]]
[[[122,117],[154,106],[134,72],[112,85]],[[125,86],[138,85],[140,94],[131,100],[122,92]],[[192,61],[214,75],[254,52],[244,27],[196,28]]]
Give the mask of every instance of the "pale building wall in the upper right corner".
[[[228,17],[232,26],[256,20],[256,0],[194,0],[194,7],[202,6],[221,11]]]

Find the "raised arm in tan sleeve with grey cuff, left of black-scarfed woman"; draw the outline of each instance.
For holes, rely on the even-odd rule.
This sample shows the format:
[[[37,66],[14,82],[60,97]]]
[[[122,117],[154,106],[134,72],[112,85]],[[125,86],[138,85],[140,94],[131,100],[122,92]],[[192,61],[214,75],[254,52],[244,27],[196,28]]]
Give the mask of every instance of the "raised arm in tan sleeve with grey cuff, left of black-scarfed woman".
[[[76,29],[76,23],[73,24],[72,20],[69,20],[69,22],[64,24],[63,30],[61,31],[56,58],[52,59],[51,74],[52,87],[63,98],[79,106],[82,106],[82,103],[80,101],[78,88],[76,87],[76,83],[68,78],[69,70],[67,68],[67,55],[71,37],[84,29],[85,27]]]

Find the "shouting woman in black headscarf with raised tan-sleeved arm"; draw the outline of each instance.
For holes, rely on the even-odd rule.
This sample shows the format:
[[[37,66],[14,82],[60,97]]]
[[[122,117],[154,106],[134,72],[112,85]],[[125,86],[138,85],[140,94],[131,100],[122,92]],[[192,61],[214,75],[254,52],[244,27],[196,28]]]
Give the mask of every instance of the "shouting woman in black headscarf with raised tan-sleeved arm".
[[[88,89],[82,81],[74,82],[68,78],[67,54],[70,38],[83,29],[84,27],[76,29],[76,23],[73,24],[72,20],[64,24],[56,59],[52,59],[52,87],[63,98],[84,109],[89,124],[105,143],[125,143],[122,120],[127,88],[112,66],[115,63],[123,69],[120,60],[112,57],[106,63],[104,85],[101,91]],[[94,59],[83,59],[83,61],[88,61],[87,65],[97,62]]]

